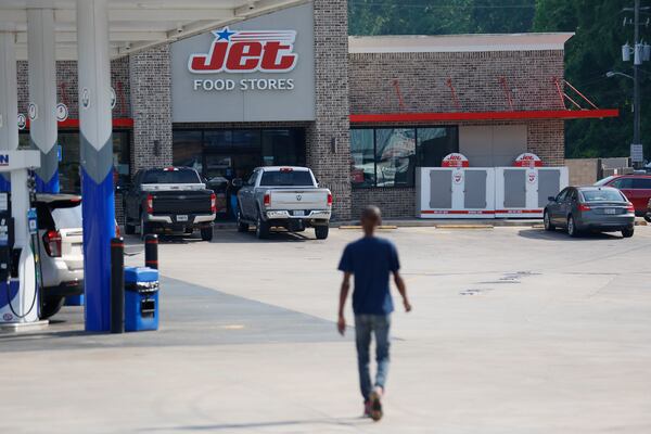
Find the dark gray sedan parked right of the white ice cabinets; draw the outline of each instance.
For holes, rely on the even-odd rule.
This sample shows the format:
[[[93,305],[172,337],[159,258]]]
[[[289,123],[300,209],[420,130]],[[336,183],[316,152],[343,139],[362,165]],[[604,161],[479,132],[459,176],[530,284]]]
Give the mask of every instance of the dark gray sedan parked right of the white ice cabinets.
[[[544,213],[546,230],[565,228],[571,237],[584,231],[622,231],[629,238],[635,230],[633,204],[612,187],[567,187],[549,197]]]

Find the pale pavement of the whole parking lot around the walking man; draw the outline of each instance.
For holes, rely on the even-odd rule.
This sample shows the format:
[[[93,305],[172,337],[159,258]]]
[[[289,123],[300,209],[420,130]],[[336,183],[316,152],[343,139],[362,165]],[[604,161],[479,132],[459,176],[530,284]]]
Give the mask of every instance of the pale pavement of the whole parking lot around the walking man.
[[[0,334],[3,432],[649,433],[651,228],[399,228],[414,310],[394,314],[386,414],[360,418],[326,241],[164,239],[161,330]],[[129,264],[142,263],[129,257]],[[399,304],[396,304],[399,306]],[[348,315],[348,320],[352,316]]]

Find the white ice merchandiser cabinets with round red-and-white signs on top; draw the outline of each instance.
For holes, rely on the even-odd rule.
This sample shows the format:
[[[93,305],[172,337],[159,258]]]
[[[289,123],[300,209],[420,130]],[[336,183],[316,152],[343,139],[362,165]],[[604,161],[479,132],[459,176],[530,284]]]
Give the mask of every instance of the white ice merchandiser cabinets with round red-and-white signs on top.
[[[470,167],[461,154],[449,154],[442,167],[417,174],[417,217],[541,218],[549,196],[567,187],[566,167],[542,167],[525,153],[512,167]]]

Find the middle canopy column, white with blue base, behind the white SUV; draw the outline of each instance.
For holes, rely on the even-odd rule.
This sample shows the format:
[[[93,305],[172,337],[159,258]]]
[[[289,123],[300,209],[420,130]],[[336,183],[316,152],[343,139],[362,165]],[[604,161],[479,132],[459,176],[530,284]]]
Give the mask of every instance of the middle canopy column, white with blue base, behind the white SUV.
[[[59,153],[56,151],[56,62],[54,51],[54,11],[27,10],[27,61],[29,77],[29,139],[31,149],[41,152],[36,170],[36,191],[59,193]]]

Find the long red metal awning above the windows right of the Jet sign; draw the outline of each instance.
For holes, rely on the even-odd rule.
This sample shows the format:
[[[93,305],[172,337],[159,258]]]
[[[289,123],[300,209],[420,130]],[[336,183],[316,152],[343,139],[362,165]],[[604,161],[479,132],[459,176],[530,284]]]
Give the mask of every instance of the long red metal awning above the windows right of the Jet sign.
[[[620,116],[620,111],[617,108],[540,110],[514,112],[382,113],[362,115],[352,114],[350,124],[452,120],[585,119],[617,116]]]

